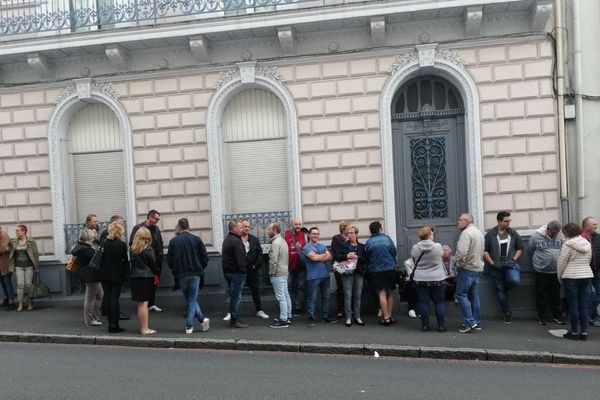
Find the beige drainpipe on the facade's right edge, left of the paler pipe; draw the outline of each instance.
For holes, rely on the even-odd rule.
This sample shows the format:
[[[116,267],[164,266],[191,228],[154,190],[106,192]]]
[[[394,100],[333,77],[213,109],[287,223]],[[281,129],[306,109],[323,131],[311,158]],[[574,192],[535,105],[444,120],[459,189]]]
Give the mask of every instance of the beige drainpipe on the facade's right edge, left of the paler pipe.
[[[563,2],[554,0],[554,17],[556,30],[556,85],[558,110],[558,162],[560,174],[560,206],[562,222],[569,222],[569,187],[567,181],[567,145],[565,138],[565,57],[564,57],[564,25]]]

